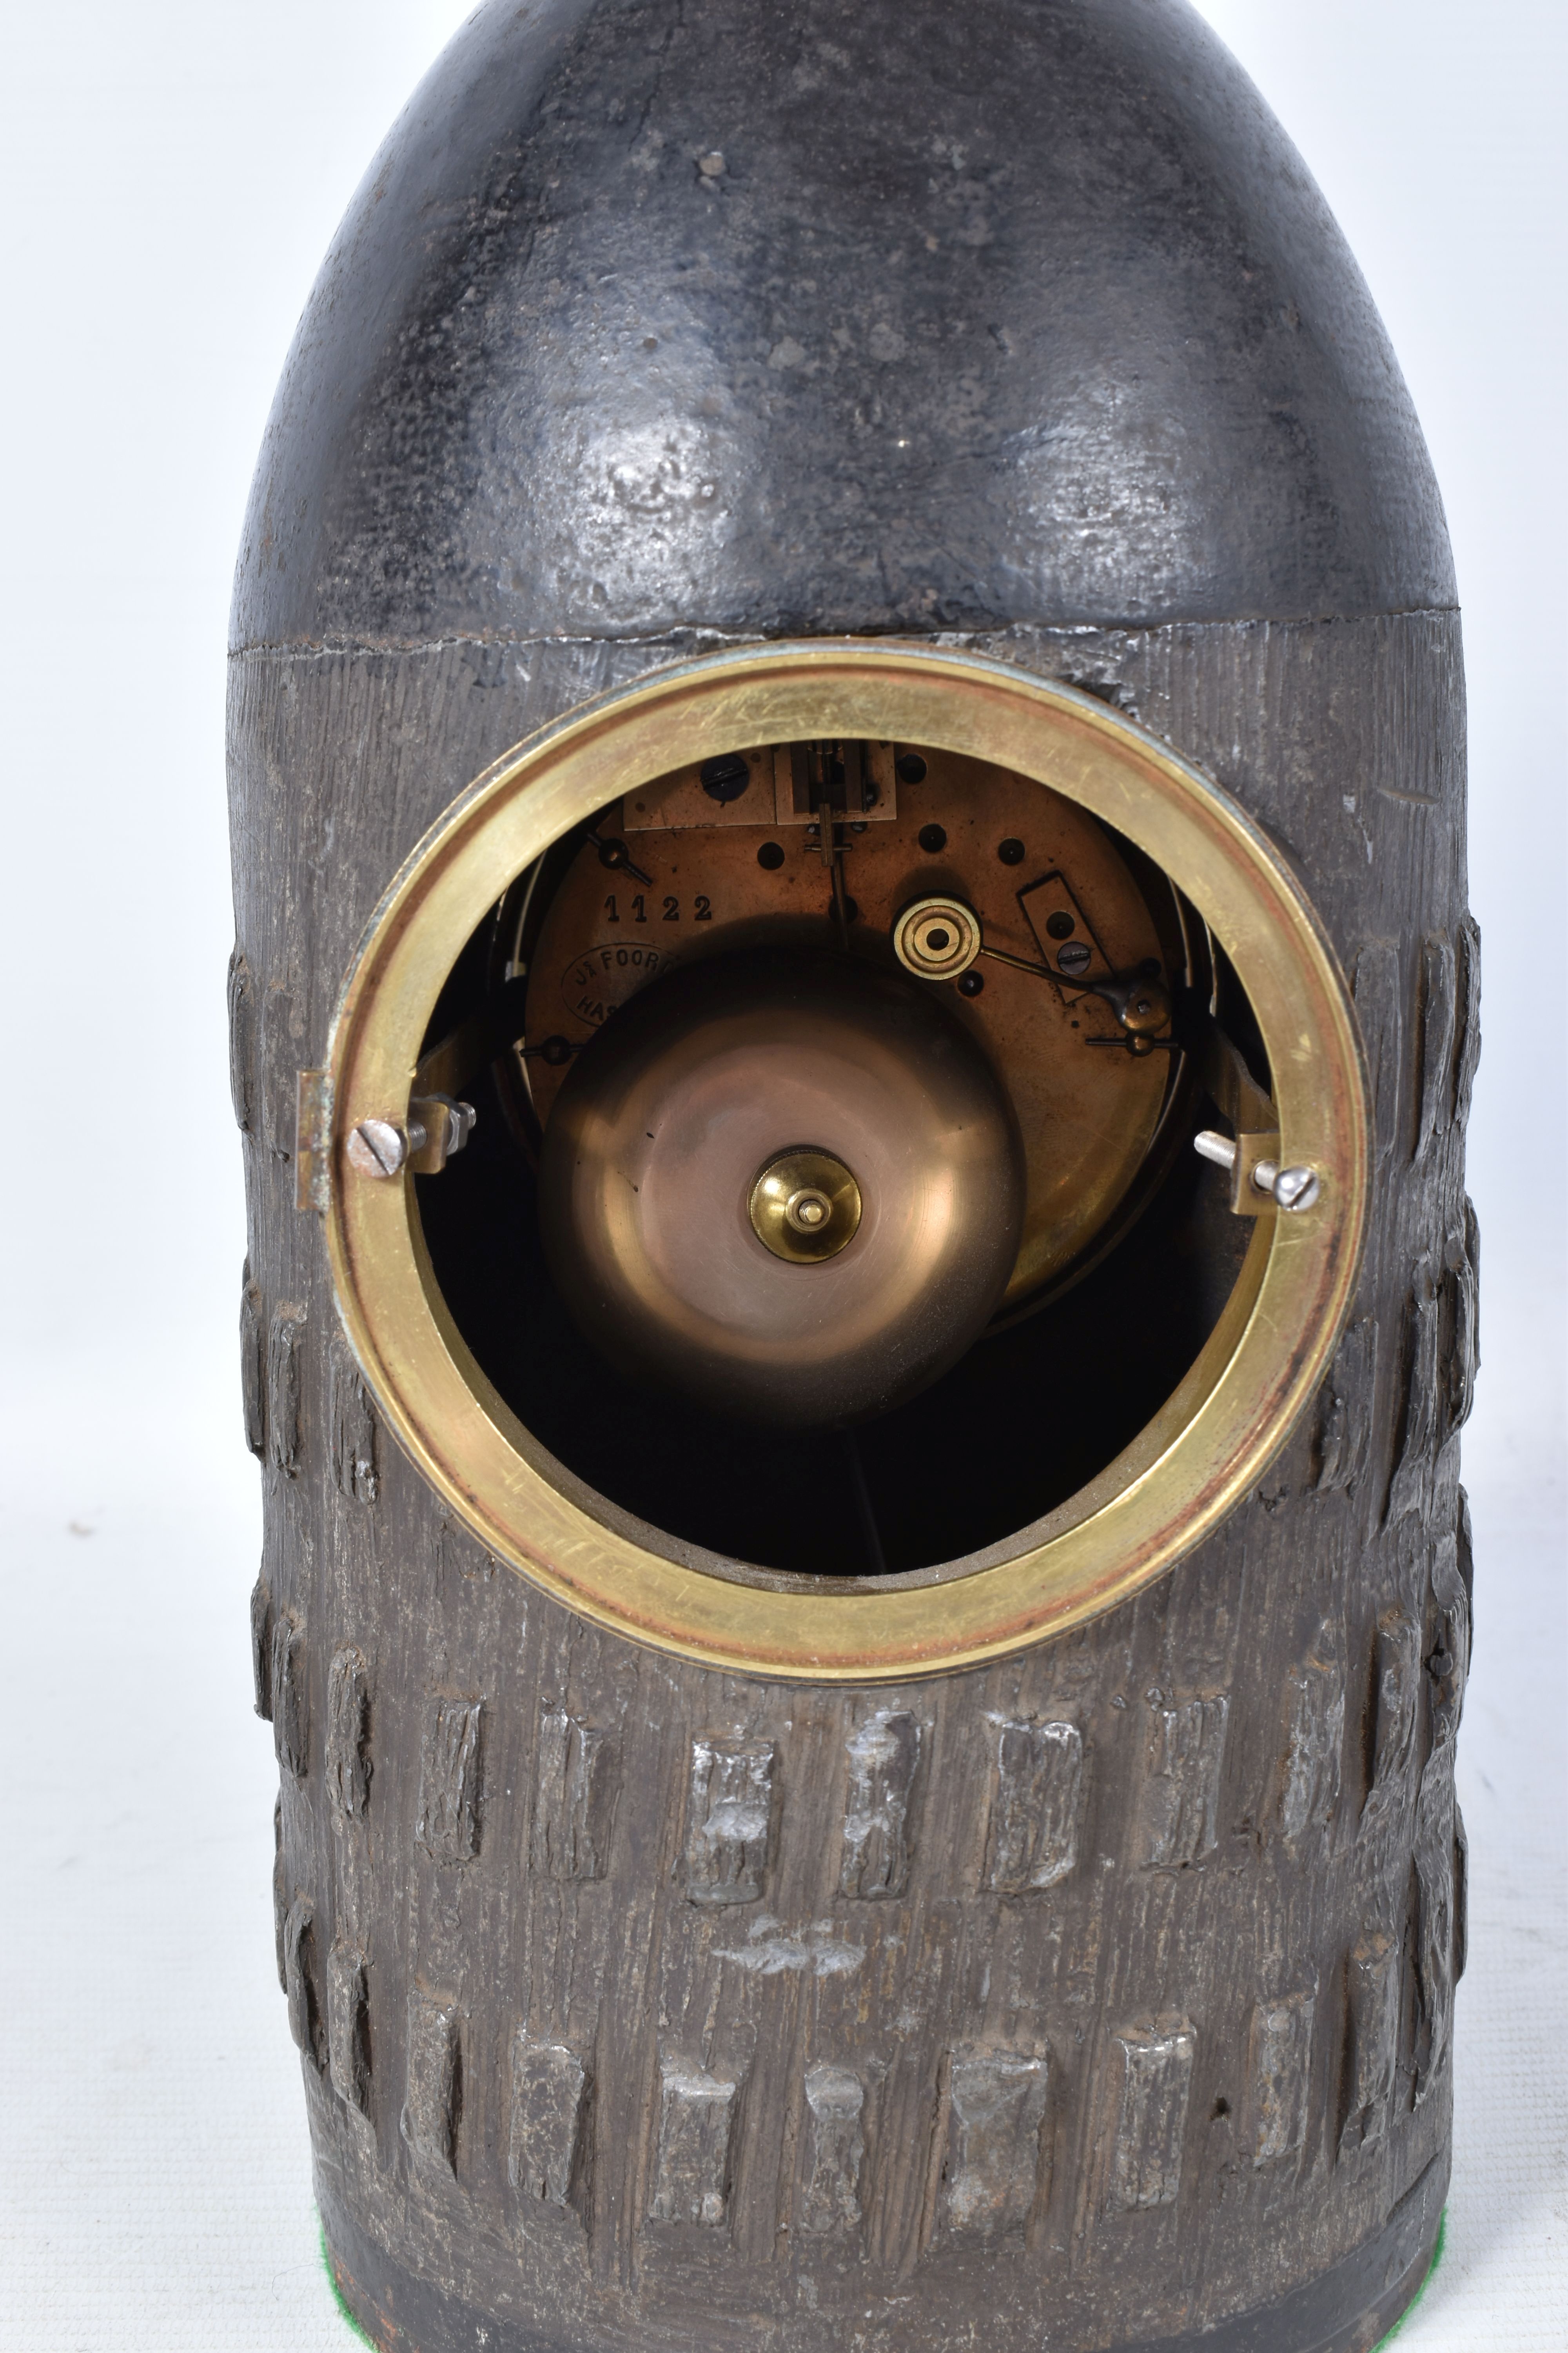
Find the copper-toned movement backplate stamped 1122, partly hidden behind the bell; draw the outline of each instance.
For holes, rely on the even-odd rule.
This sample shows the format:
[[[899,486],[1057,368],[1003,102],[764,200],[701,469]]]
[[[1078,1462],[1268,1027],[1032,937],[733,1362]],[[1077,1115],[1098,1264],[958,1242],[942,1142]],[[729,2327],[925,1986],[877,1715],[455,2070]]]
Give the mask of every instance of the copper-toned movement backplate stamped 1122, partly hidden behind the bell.
[[[832,939],[818,828],[778,826],[771,755],[755,769],[750,788],[724,805],[679,776],[628,793],[557,880],[527,941],[520,1068],[541,1127],[569,1068],[564,1049],[581,1052],[654,981],[698,955],[780,934]],[[1126,859],[1084,807],[1032,776],[931,746],[905,753],[903,769],[896,819],[839,828],[849,941],[875,951],[891,939],[903,967],[940,988],[1013,1101],[1027,1193],[1006,1313],[1081,1261],[1147,1160],[1173,1059],[1124,1052],[1124,1026],[1086,981],[1145,962],[1164,972],[1168,941]],[[630,833],[625,812],[637,800],[644,807]],[[752,802],[759,807],[743,824]],[[654,826],[670,809],[679,824]],[[630,868],[602,864],[599,847],[616,840],[625,840]],[[961,936],[966,918],[973,939]],[[980,958],[980,929],[987,951],[1006,951],[1011,962]],[[898,944],[905,932],[907,951]],[[940,948],[931,946],[938,936]],[[952,986],[964,974],[973,993]]]

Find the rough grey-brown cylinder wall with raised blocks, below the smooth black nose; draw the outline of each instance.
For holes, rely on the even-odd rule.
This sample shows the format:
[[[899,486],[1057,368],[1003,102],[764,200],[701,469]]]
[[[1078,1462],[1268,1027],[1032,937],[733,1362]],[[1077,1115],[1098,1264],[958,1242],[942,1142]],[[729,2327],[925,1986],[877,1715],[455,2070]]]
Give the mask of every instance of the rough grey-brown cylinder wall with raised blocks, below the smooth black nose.
[[[1338,647],[1356,633],[1375,638],[1375,661],[1333,668],[1335,708],[1378,706],[1378,744],[1371,729],[1368,741],[1314,739],[1291,744],[1288,760],[1321,767],[1354,753],[1345,774],[1363,769],[1368,784],[1354,786],[1345,840],[1356,845],[1366,819],[1366,871],[1380,892],[1396,859],[1432,864],[1408,915],[1394,918],[1396,894],[1324,901],[1356,974],[1380,1158],[1354,1320],[1312,1428],[1269,1482],[1288,1492],[1272,1497],[1267,1518],[1244,1501],[1133,1607],[912,1697],[738,1682],[599,1635],[477,1539],[456,1527],[442,1537],[447,1506],[386,1428],[367,1506],[353,1468],[364,1447],[336,1438],[331,1301],[317,1231],[292,1205],[287,1153],[296,1071],[322,1052],[327,1000],[369,899],[350,882],[331,939],[299,929],[322,911],[306,887],[320,831],[299,805],[282,809],[275,779],[334,776],[334,729],[353,718],[367,772],[388,776],[376,795],[386,824],[355,847],[374,896],[496,741],[644,668],[649,652],[531,649],[541,678],[550,664],[576,668],[569,694],[545,685],[522,718],[498,718],[520,675],[515,647],[433,649],[418,675],[393,656],[237,664],[244,727],[252,739],[266,732],[263,751],[247,755],[247,821],[299,842],[275,904],[252,887],[242,908],[254,1005],[266,1007],[244,1148],[242,1402],[247,1442],[261,1442],[266,1464],[254,1624],[268,1711],[280,1626],[294,1647],[280,1678],[277,1967],[313,2078],[320,2179],[339,2209],[425,2278],[465,2245],[480,2301],[484,2278],[517,2297],[510,2325],[562,2341],[574,2327],[625,2327],[710,2353],[736,2313],[827,2344],[903,2297],[896,2329],[912,2348],[959,2341],[978,2308],[1001,2353],[1041,2344],[1041,2332],[1084,2353],[1248,2311],[1281,2280],[1361,2245],[1413,2181],[1441,2177],[1465,1958],[1465,1835],[1441,1760],[1469,1652],[1450,1440],[1476,1360],[1476,1235],[1458,1129],[1479,1031],[1458,868],[1441,864],[1436,840],[1458,812],[1453,760],[1420,755],[1420,807],[1378,786],[1408,781],[1413,758],[1385,741],[1410,673],[1380,666],[1403,633],[1450,675],[1453,628],[1441,616],[1269,624],[1185,631],[1180,645],[1128,633],[1095,640],[1091,675],[1143,664],[1145,715],[1225,769],[1232,734],[1204,713],[1232,729],[1237,711],[1267,711],[1272,732],[1286,713],[1291,734],[1288,711],[1319,692],[1312,678],[1342,664]],[[1199,638],[1208,654],[1194,652]],[[1046,638],[1006,652],[1056,661]],[[1295,791],[1258,732],[1232,767],[1246,779],[1267,772],[1279,795]],[[1274,821],[1286,800],[1258,807]],[[1312,842],[1307,852],[1316,856]],[[1319,880],[1328,871],[1314,866]],[[1366,939],[1396,922],[1403,951]],[[1436,1031],[1422,941],[1443,929],[1460,1014],[1429,1099]],[[1432,1339],[1420,1346],[1413,1294],[1432,1294]],[[275,1348],[284,1308],[292,1329]],[[334,1762],[331,1661],[348,1647],[371,1671],[362,1821],[341,1812]],[[1345,1678],[1338,1809],[1335,1697],[1316,1666]],[[1157,1706],[1150,1687],[1166,1694]],[[425,1774],[440,1706],[430,1692],[458,1697],[430,1744],[440,1772],[433,1762]],[[484,1715],[470,1718],[480,1692]],[[1211,1694],[1227,1692],[1229,1722],[1213,1722]],[[602,1784],[585,1741],[574,1758],[567,1725],[559,1779],[545,1772],[548,1713],[618,1746],[604,1840]],[[900,1802],[865,1755],[879,1746],[865,1739],[879,1715],[907,1727],[903,1746],[886,1744],[910,1765]],[[1072,1807],[1065,1751],[1044,1727],[1065,1720],[1081,1729],[1077,1859],[1048,1878],[1067,1857],[1060,1826]],[[696,1739],[773,1751],[766,1861],[750,1871],[741,1859],[731,1885],[750,1875],[757,1894],[729,1918],[686,1894]],[[851,1741],[863,1751],[853,1767]],[[437,1868],[437,1849],[468,1859]],[[578,1878],[595,1868],[590,1854],[597,1873]],[[1100,1854],[1117,1868],[1103,1871]],[[1131,1868],[1154,1857],[1164,1868]],[[896,1901],[863,1901],[891,1887]],[[1319,1969],[1316,2000],[1302,1955]],[[1180,2021],[1171,2002],[1182,2002]],[[531,2057],[515,2080],[520,2019]],[[959,2101],[973,2108],[976,2085],[959,2080],[957,2061],[1032,2061],[1046,2033],[1034,2202],[1025,2165],[1001,2231],[959,2228],[954,2186],[985,2167],[978,2139],[959,2151]],[[1218,2094],[1237,2113],[1211,2122]],[[374,2162],[367,2120],[378,2129]],[[1328,2198],[1321,2160],[1340,2139],[1340,2191]],[[1248,2271],[1237,2282],[1239,2254],[1251,2264],[1253,2252],[1258,2280]],[[1269,2264],[1279,2271],[1265,2278]],[[752,2287],[757,2304],[745,2301]]]

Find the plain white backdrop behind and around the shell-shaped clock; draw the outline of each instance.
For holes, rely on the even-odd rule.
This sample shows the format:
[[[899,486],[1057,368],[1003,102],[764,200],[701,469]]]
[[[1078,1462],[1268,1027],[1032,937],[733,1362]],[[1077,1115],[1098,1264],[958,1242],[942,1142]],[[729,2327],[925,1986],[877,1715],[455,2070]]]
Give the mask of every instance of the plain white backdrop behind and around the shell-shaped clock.
[[[1568,2341],[1561,0],[1206,0],[1366,268],[1460,567],[1486,1054],[1476,1866],[1410,2353]],[[273,1981],[233,1320],[223,624],[320,254],[442,0],[5,21],[0,2346],[346,2346]],[[26,1064],[26,1068],[24,1068]],[[28,1078],[26,1071],[33,1075]]]

